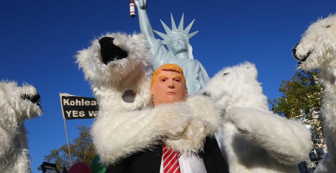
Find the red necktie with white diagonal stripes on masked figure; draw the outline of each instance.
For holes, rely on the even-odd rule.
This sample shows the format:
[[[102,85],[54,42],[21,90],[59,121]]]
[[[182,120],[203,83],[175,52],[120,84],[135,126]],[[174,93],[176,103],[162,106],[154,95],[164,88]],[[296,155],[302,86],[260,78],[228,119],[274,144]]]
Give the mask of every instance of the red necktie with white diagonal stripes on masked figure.
[[[181,153],[173,152],[172,149],[167,149],[167,146],[162,145],[163,149],[163,172],[164,173],[180,173],[179,157]]]

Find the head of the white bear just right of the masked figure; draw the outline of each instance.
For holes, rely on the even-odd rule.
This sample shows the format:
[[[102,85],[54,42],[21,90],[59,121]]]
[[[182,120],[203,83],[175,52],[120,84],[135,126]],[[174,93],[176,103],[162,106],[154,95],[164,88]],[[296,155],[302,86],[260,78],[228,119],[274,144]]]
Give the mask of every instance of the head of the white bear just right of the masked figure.
[[[227,67],[215,74],[200,93],[213,98],[223,110],[238,106],[267,111],[257,76],[256,66],[249,62]]]

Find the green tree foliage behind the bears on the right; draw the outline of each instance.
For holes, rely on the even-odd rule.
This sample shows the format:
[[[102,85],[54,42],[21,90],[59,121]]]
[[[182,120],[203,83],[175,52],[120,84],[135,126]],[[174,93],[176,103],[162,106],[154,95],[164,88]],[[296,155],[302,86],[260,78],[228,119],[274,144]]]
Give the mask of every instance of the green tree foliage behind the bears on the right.
[[[323,85],[317,71],[295,72],[291,80],[283,80],[279,91],[281,98],[269,100],[272,110],[283,117],[301,120],[310,126],[316,148],[322,147],[323,133],[321,120],[321,101]]]

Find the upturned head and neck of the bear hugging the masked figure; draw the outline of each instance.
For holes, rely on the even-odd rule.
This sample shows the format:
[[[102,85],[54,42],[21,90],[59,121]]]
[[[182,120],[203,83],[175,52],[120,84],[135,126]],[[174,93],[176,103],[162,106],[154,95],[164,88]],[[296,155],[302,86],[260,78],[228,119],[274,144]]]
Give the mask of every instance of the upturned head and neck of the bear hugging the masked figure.
[[[103,47],[102,43],[105,43]],[[109,55],[108,60],[104,59],[105,55],[101,52],[110,45],[115,46],[110,53],[124,53],[115,53]],[[78,51],[76,59],[91,83],[101,111],[135,110],[151,103],[149,87],[152,70],[144,35],[106,34],[93,40],[88,49]]]

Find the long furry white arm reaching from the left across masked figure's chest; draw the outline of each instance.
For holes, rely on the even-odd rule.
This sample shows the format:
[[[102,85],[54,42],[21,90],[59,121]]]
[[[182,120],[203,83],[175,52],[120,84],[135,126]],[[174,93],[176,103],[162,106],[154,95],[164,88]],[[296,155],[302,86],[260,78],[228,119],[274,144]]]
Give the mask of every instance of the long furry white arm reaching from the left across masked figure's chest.
[[[91,133],[101,161],[114,164],[150,149],[163,137],[179,137],[192,117],[189,107],[178,102],[139,111],[100,114]]]

